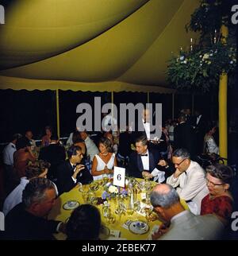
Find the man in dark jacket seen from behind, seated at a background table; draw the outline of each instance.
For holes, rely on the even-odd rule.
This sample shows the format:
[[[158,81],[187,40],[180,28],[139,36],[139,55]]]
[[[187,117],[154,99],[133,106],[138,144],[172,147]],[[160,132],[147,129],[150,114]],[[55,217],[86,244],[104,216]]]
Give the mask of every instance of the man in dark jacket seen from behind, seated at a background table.
[[[66,158],[65,149],[59,145],[59,137],[52,134],[51,143],[40,149],[39,159],[48,161],[51,166],[48,169],[48,179],[56,181],[56,170],[60,163],[63,163]]]

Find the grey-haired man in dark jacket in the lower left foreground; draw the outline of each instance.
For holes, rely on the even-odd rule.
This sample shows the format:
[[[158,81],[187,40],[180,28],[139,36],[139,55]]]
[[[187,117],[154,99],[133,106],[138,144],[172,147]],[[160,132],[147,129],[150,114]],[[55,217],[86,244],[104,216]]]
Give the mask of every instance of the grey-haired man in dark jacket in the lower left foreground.
[[[54,239],[53,233],[65,230],[62,222],[47,219],[55,200],[56,188],[51,180],[30,180],[22,193],[22,203],[6,215],[6,239]]]

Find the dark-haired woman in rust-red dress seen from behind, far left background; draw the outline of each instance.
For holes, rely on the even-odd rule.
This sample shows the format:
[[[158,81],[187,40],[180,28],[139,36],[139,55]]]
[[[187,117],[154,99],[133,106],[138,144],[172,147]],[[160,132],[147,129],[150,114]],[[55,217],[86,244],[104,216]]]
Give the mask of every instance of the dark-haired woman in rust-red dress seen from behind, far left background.
[[[17,141],[17,151],[13,153],[13,165],[19,178],[25,176],[25,169],[29,161],[36,161],[31,146],[32,144],[26,137],[22,137]]]

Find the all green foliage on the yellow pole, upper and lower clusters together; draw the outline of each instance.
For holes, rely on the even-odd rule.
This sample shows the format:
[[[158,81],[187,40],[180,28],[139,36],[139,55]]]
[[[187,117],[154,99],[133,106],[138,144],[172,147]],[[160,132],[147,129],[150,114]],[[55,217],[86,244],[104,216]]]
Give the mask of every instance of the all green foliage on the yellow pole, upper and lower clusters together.
[[[178,89],[209,91],[217,87],[223,72],[229,74],[229,83],[236,68],[236,45],[234,37],[221,43],[221,25],[228,25],[225,5],[228,0],[202,0],[200,6],[191,15],[187,29],[201,32],[199,45],[193,45],[191,51],[180,51],[168,62],[167,80]],[[226,6],[226,8],[225,8]],[[229,9],[230,12],[230,9]]]

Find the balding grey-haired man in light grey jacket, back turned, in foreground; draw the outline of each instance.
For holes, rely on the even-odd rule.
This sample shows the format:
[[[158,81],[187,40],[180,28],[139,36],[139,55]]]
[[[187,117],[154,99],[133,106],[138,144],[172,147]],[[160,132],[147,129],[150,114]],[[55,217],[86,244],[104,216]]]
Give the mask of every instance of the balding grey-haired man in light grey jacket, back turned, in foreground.
[[[213,240],[220,239],[224,226],[216,215],[194,215],[180,203],[178,193],[169,184],[157,184],[152,190],[154,211],[163,220],[152,239]]]

